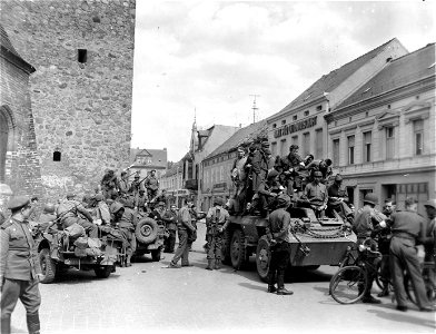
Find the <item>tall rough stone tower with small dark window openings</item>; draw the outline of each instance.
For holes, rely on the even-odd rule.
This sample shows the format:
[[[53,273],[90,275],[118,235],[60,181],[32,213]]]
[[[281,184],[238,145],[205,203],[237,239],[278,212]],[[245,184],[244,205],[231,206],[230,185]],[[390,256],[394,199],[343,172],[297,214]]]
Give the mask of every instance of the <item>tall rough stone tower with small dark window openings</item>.
[[[36,68],[31,107],[48,197],[83,194],[129,164],[135,0],[2,0],[1,22]],[[26,176],[23,176],[26,177]]]

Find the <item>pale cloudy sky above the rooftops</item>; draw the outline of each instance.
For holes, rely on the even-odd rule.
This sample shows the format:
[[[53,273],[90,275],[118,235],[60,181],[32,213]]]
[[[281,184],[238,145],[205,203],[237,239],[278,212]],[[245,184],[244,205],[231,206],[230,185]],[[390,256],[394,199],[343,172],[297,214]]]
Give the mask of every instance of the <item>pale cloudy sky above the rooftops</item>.
[[[195,117],[244,127],[393,38],[435,42],[435,2],[137,0],[131,147],[178,161]]]

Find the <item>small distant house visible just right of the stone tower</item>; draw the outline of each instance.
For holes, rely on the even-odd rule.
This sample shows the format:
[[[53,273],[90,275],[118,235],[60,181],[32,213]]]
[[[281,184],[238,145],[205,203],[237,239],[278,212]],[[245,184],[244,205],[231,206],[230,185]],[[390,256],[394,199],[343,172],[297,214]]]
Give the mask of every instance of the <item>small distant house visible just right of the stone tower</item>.
[[[167,149],[130,149],[130,179],[135,174],[145,178],[152,169],[156,169],[156,176],[160,178],[167,169]]]

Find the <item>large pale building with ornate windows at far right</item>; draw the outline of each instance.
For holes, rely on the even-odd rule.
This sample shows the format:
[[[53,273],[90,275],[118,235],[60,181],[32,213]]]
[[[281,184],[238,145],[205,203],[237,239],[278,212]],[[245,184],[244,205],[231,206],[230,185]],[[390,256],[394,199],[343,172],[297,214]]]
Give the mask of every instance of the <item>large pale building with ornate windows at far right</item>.
[[[389,59],[384,69],[326,115],[327,155],[354,203],[367,193],[399,207],[407,196],[435,198],[435,45]]]

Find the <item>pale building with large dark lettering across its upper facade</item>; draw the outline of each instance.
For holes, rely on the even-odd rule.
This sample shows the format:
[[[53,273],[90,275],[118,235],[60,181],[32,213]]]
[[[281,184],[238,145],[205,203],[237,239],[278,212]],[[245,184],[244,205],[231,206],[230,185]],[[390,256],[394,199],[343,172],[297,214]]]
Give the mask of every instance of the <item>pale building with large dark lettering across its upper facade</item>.
[[[285,156],[290,145],[299,146],[299,154],[326,158],[327,129],[324,115],[386,67],[392,59],[407,53],[397,39],[323,76],[268,121],[272,155]]]

